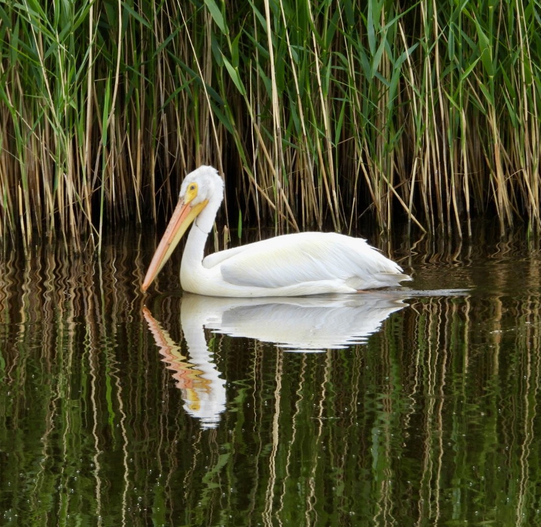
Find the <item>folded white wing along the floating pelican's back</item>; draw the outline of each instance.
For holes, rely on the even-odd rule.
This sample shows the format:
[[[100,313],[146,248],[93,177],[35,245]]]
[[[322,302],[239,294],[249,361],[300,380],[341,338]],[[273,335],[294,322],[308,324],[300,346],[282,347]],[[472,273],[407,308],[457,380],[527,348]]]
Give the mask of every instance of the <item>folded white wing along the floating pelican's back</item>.
[[[214,263],[221,261],[226,282],[241,286],[279,288],[339,280],[347,287],[362,289],[397,285],[400,279],[408,278],[401,274],[399,265],[366,240],[337,233],[295,233],[229,251],[223,251],[228,253],[225,256],[218,253]],[[203,262],[206,267],[207,258]]]

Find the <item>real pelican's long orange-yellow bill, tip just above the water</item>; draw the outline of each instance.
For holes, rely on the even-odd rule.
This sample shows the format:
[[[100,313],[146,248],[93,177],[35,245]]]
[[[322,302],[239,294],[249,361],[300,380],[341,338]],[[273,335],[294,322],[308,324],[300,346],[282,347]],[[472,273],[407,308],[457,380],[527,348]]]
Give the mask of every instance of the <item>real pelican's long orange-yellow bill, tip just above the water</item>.
[[[176,206],[173,216],[169,220],[166,231],[163,233],[160,245],[156,249],[152,261],[150,262],[147,275],[144,277],[141,291],[145,292],[152,283],[156,275],[161,271],[163,265],[168,261],[171,254],[179,244],[184,232],[188,229],[190,223],[197,217],[208,200],[203,200],[201,203],[192,206],[192,203],[184,203],[181,199]]]

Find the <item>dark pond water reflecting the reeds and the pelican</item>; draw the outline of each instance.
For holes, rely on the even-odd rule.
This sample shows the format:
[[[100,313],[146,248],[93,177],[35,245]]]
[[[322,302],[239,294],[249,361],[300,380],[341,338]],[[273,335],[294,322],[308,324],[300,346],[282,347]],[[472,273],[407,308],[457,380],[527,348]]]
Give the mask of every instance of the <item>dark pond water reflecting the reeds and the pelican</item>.
[[[1,525],[541,524],[537,242],[375,239],[410,288],[251,302],[178,257],[143,297],[154,243],[4,253]]]

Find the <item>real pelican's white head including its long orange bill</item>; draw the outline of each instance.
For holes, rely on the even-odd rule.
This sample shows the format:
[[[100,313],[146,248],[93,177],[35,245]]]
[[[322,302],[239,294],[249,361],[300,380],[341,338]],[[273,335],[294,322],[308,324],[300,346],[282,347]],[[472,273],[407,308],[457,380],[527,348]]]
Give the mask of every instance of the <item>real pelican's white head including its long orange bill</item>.
[[[147,275],[144,277],[141,286],[143,292],[148,289],[156,275],[161,271],[171,253],[179,244],[184,232],[196,218],[197,226],[203,232],[209,232],[212,229],[216,211],[220,207],[222,199],[223,180],[214,167],[200,166],[184,178],[180,187],[179,203],[152,257]],[[208,207],[211,213],[201,214],[209,204],[212,204],[212,206]]]

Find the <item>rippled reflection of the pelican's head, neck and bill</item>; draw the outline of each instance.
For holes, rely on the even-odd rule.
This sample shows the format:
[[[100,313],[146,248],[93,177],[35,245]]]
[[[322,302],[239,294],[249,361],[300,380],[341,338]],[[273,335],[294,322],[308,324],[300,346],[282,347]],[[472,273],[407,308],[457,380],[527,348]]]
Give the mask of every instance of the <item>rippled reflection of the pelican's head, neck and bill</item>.
[[[181,315],[182,330],[190,356],[188,359],[182,355],[180,347],[171,340],[167,331],[147,308],[143,308],[143,315],[156,345],[160,348],[163,362],[174,372],[173,378],[184,399],[184,409],[199,418],[203,428],[214,428],[226,408],[226,381],[220,379],[201,326],[184,320]]]

